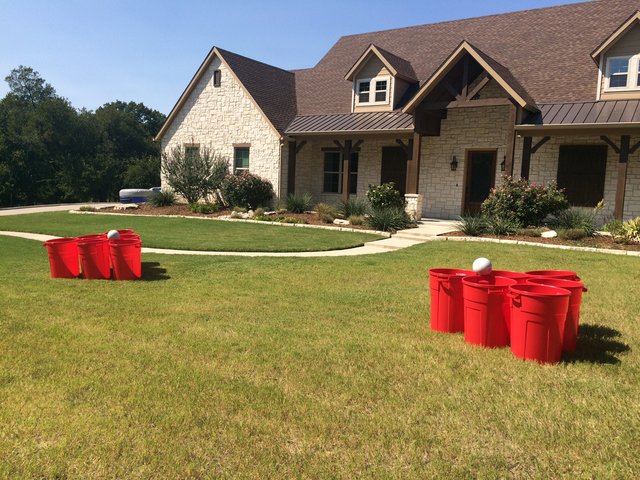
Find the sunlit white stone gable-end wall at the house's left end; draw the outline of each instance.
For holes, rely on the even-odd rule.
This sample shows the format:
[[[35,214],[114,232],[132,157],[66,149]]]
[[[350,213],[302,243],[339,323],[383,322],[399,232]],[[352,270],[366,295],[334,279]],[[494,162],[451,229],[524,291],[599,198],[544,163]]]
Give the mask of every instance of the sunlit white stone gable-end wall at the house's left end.
[[[221,71],[220,87],[213,86],[213,71]],[[251,144],[249,171],[273,183],[282,195],[280,135],[247,95],[220,59],[215,58],[162,138],[162,151],[185,143],[199,143],[229,159],[233,144]],[[286,160],[285,160],[286,164]],[[285,170],[286,175],[286,170]],[[286,180],[286,176],[284,177]],[[165,186],[165,182],[162,182]]]

